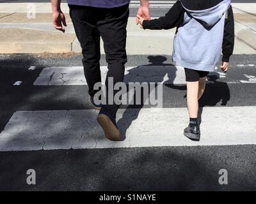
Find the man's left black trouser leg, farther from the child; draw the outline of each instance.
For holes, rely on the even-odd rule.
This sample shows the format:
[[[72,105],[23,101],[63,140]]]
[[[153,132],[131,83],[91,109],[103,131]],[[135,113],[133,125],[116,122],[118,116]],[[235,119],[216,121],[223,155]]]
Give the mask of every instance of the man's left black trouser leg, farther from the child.
[[[70,6],[70,17],[74,24],[77,39],[82,48],[84,75],[88,84],[90,96],[94,84],[101,82],[100,76],[100,34],[97,31],[96,9],[87,6]]]

